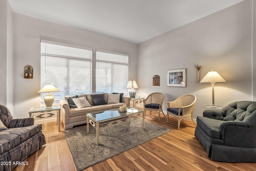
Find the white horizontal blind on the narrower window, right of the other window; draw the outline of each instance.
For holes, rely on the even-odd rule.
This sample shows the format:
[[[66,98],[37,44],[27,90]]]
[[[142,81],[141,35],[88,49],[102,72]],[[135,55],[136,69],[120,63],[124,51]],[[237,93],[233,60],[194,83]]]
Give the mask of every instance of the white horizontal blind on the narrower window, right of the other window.
[[[96,51],[96,93],[124,93],[128,81],[128,55]]]

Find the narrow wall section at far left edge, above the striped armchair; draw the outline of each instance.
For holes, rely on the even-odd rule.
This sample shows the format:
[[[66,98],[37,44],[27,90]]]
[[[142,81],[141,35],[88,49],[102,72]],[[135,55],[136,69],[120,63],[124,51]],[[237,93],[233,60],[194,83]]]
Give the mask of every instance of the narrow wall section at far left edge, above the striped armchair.
[[[0,0],[0,104],[13,111],[13,11],[8,0]]]

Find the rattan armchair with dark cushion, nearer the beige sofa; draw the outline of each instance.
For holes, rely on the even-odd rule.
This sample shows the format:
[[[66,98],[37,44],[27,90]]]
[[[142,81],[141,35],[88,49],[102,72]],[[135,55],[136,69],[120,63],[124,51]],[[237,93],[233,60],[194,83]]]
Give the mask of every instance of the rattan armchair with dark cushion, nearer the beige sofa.
[[[164,99],[165,99],[165,95],[163,93],[156,92],[148,95],[148,97],[143,100],[145,112],[147,110],[150,110],[150,115],[151,115],[151,111],[158,112],[158,117],[159,117],[158,120],[160,121],[160,112],[162,111],[164,115],[164,112],[163,112]]]

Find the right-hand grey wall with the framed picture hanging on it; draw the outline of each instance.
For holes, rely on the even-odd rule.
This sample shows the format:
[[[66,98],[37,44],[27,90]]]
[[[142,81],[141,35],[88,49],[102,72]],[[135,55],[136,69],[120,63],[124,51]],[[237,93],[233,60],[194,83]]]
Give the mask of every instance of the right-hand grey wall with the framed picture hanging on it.
[[[138,87],[144,97],[162,92],[166,101],[180,95],[197,96],[194,118],[202,115],[204,104],[212,103],[210,83],[196,83],[211,69],[227,82],[215,84],[215,104],[252,100],[252,7],[251,0],[201,18],[138,46]],[[166,72],[186,68],[186,87],[167,87]],[[160,76],[160,86],[152,77]],[[166,105],[164,102],[164,111]]]

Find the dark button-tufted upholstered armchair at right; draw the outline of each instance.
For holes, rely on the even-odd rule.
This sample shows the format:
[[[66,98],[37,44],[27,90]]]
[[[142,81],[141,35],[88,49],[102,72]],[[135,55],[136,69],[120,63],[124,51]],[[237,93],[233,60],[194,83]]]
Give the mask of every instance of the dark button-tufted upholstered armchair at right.
[[[256,102],[237,101],[206,109],[196,118],[195,137],[214,161],[256,162]]]

